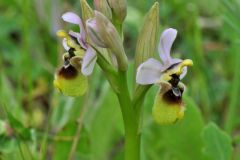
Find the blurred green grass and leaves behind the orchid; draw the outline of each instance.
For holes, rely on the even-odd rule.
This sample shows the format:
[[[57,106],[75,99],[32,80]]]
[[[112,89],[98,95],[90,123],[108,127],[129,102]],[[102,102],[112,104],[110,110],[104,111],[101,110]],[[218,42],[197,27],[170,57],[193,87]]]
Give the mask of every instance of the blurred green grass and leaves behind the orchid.
[[[124,30],[130,60],[154,2],[128,0]],[[157,87],[147,94],[142,159],[240,159],[240,1],[159,3],[161,31],[178,30],[174,56],[191,58],[194,67],[183,80],[187,110],[181,122],[154,123]],[[123,159],[121,112],[101,70],[95,67],[84,97],[64,97],[53,88],[63,53],[55,33],[70,27],[61,20],[66,11],[80,14],[79,1],[0,0],[0,159],[67,160],[77,133],[74,159]]]

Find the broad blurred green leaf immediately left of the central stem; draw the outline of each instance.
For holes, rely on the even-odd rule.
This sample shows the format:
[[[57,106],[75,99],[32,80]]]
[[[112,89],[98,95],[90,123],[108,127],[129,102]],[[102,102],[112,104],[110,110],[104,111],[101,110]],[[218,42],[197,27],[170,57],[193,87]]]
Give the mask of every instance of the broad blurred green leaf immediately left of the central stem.
[[[87,123],[90,127],[92,159],[115,159],[122,156],[123,123],[117,98],[109,85],[101,102],[90,106]]]

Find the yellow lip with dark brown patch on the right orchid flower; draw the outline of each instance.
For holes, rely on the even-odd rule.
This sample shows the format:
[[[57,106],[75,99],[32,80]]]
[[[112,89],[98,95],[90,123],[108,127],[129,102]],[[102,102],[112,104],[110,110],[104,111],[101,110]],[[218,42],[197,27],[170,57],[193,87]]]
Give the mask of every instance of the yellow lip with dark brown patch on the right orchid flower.
[[[184,116],[184,104],[182,102],[183,85],[172,87],[170,83],[161,83],[152,114],[154,120],[161,125],[168,125],[177,122]]]

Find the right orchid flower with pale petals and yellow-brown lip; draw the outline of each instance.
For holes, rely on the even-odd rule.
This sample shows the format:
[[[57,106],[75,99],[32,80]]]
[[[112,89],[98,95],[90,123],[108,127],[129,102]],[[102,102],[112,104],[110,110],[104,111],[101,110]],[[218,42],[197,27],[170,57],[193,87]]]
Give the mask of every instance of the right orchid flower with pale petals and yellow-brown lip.
[[[141,85],[159,84],[159,94],[155,98],[153,117],[160,124],[169,124],[184,115],[182,93],[184,84],[180,80],[192,66],[190,59],[181,60],[170,56],[171,47],[177,36],[177,30],[166,29],[160,38],[158,52],[162,62],[150,58],[137,69],[136,81]]]

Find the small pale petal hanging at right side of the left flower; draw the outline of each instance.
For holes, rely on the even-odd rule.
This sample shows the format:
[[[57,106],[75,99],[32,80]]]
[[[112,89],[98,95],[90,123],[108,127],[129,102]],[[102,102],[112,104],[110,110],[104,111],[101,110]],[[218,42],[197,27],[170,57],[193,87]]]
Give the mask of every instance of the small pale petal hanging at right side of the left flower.
[[[96,51],[93,48],[89,47],[85,53],[85,56],[83,57],[81,69],[83,75],[88,76],[92,73],[96,60]]]

